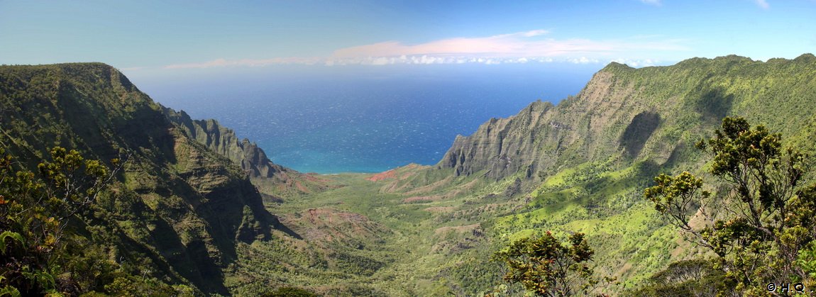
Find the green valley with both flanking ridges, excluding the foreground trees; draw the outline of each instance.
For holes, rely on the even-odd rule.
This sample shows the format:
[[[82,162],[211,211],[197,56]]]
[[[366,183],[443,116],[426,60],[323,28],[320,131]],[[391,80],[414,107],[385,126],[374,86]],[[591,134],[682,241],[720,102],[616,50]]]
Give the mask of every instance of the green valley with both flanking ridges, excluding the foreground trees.
[[[273,164],[250,141],[163,108],[104,64],[2,66],[0,100],[0,146],[22,167],[34,171],[53,146],[103,161],[131,156],[73,228],[103,258],[150,271],[131,286],[153,286],[149,278],[221,295],[520,295],[491,258],[546,231],[586,233],[596,273],[617,277],[608,290],[623,294],[669,264],[712,256],[643,193],[660,173],[711,178],[694,144],[723,117],[782,133],[786,148],[816,148],[810,54],[611,63],[578,95],[457,137],[434,166],[376,175]]]

